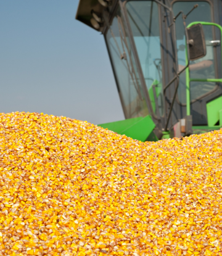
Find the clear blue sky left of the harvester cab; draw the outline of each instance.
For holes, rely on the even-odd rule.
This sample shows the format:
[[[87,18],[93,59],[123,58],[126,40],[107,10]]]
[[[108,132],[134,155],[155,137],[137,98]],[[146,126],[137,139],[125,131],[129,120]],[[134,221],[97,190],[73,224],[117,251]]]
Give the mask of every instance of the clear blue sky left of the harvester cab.
[[[0,112],[123,120],[104,37],[78,0],[0,0]]]

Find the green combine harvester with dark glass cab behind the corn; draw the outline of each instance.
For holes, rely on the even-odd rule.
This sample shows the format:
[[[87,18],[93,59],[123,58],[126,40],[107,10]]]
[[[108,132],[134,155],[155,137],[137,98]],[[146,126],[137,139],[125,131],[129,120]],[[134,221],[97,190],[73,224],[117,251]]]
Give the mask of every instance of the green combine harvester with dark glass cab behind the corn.
[[[80,0],[100,31],[126,120],[99,126],[140,141],[222,126],[222,1]]]

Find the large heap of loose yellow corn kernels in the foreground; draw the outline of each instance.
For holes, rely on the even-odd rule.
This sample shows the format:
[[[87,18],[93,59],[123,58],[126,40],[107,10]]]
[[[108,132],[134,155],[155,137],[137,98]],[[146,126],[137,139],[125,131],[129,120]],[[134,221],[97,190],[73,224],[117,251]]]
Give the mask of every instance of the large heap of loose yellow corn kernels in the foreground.
[[[0,255],[222,255],[221,145],[0,114]]]

